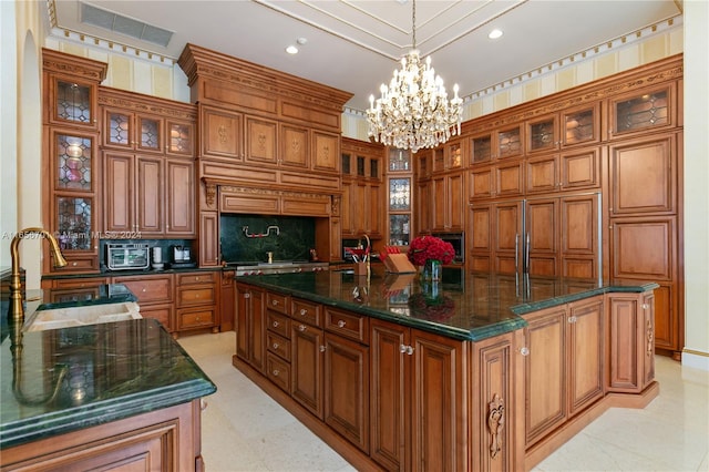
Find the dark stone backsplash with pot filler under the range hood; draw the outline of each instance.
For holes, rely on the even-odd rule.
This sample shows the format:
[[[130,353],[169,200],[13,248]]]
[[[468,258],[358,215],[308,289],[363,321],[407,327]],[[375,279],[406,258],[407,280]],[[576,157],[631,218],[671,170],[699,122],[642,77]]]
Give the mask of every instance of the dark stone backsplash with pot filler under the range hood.
[[[266,261],[269,252],[274,260],[308,260],[315,247],[314,218],[222,215],[219,224],[226,263]]]

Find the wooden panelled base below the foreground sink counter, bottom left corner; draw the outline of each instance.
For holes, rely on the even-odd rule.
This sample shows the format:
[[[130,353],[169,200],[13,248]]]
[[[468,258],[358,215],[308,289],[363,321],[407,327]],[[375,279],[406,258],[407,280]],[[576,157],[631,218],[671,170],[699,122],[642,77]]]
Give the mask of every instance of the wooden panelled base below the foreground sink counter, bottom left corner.
[[[2,450],[2,471],[204,471],[201,400]],[[194,464],[194,468],[191,466]]]

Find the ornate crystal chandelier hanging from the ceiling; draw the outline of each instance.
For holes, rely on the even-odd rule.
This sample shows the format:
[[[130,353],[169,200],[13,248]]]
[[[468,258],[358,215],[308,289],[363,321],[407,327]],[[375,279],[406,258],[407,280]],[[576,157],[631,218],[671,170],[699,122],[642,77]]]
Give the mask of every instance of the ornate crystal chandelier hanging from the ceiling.
[[[417,2],[412,9],[413,49],[401,59],[389,86],[381,84],[381,98],[369,98],[369,135],[387,146],[411,150],[435,147],[460,134],[463,101],[448,100],[443,79],[431,68],[431,57],[421,63],[417,50]]]

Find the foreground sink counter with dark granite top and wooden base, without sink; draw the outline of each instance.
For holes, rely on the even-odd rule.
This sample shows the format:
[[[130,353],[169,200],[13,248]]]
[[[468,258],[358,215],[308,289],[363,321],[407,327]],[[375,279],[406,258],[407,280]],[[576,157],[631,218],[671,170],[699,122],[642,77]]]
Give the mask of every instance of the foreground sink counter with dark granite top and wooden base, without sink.
[[[28,306],[132,298],[100,285],[76,300],[37,293]],[[203,469],[201,399],[216,387],[158,321],[44,331],[10,324],[0,349],[1,470]]]

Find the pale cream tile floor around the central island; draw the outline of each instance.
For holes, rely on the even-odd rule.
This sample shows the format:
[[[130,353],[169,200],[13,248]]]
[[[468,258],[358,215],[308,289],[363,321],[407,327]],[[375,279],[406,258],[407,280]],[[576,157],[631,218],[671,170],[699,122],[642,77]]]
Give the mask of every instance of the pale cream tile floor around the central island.
[[[217,384],[203,413],[207,472],[353,471],[232,366],[235,332],[179,343]],[[534,471],[709,471],[709,372],[656,357],[660,394],[610,409]]]

